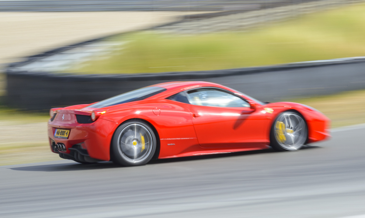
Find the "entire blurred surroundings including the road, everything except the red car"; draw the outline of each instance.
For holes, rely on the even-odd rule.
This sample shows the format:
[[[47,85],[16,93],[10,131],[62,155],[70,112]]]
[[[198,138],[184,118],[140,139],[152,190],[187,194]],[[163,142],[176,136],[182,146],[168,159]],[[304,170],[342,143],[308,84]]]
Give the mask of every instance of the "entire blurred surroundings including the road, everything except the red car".
[[[0,0],[0,217],[365,218],[364,35],[365,0]],[[139,167],[50,151],[50,108],[176,80],[312,106],[332,138]]]

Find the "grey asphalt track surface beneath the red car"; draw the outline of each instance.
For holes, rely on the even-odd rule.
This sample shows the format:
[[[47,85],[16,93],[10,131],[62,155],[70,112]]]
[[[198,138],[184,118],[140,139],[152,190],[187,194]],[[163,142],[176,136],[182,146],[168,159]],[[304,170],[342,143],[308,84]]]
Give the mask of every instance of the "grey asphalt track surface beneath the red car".
[[[365,214],[365,125],[297,152],[0,167],[0,217],[345,217]]]

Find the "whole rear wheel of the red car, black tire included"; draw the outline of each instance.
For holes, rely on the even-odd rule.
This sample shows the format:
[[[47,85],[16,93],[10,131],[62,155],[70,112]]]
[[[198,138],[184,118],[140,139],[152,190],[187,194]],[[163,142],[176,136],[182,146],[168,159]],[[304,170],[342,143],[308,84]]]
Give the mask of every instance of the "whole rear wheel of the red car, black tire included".
[[[122,166],[145,165],[154,156],[156,147],[156,136],[148,124],[139,120],[127,121],[114,132],[111,160]]]

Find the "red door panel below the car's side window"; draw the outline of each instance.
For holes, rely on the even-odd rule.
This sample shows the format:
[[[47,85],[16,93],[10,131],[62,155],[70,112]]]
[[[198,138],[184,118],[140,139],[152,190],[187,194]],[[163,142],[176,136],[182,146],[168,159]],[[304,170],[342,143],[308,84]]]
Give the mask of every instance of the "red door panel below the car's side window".
[[[261,147],[266,117],[261,109],[192,105],[193,124],[201,147]]]

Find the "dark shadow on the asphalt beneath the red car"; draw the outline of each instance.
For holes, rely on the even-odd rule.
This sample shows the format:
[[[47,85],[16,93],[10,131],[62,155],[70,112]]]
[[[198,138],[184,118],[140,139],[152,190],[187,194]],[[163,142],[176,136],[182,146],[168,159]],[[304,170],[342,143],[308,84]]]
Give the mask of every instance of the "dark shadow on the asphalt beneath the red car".
[[[318,146],[306,146],[302,149],[314,149],[321,148]],[[233,153],[220,153],[220,154],[212,154],[212,155],[199,155],[199,156],[189,156],[189,157],[176,157],[176,158],[168,158],[168,159],[158,159],[151,160],[147,165],[151,164],[162,164],[162,163],[174,163],[181,161],[194,161],[194,160],[205,160],[205,159],[214,159],[214,158],[223,158],[223,157],[234,157],[234,156],[246,156],[246,155],[255,155],[255,154],[264,154],[264,153],[273,153],[275,152],[272,148],[262,149],[262,150],[254,150],[254,151],[242,151],[242,152],[233,152]],[[77,170],[98,170],[98,169],[109,169],[109,168],[120,168],[118,164],[114,164],[111,161],[103,161],[99,163],[92,164],[80,164],[80,163],[60,163],[60,164],[41,164],[38,166],[26,166],[26,167],[12,167],[9,168],[11,170],[19,170],[19,171],[43,171],[43,172],[57,172],[57,171],[77,171]],[[141,166],[143,167],[143,166]]]

